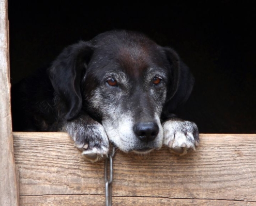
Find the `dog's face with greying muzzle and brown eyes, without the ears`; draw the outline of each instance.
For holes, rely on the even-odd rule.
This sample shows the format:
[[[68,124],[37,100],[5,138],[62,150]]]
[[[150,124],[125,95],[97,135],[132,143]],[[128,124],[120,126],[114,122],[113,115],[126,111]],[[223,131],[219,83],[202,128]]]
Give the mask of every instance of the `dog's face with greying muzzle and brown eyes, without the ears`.
[[[126,152],[147,152],[162,146],[160,116],[168,68],[156,43],[140,36],[122,37],[98,40],[84,79],[84,96],[101,116],[111,142]]]

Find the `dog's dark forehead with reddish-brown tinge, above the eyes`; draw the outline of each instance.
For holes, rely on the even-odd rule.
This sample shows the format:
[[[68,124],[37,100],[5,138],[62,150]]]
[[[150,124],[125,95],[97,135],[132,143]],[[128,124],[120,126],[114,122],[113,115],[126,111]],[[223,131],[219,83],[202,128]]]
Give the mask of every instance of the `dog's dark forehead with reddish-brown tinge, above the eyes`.
[[[111,70],[122,70],[131,76],[141,76],[150,68],[164,67],[161,46],[142,34],[117,32],[98,40],[98,58]],[[108,67],[108,66],[107,66]]]

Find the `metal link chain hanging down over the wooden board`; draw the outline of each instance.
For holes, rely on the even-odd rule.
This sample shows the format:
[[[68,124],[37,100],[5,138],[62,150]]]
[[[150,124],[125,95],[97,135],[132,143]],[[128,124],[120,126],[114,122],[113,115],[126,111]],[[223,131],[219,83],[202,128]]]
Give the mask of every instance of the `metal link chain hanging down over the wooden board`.
[[[109,157],[105,160],[105,187],[106,187],[106,206],[112,206],[112,180],[113,180],[113,157],[115,155],[115,147],[113,147],[112,152],[109,153]],[[109,160],[109,176],[108,176],[108,160]]]

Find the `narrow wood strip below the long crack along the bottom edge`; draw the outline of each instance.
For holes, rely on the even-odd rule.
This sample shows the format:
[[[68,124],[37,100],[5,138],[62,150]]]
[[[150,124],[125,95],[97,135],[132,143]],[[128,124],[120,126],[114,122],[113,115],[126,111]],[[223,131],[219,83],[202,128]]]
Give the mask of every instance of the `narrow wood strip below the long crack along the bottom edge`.
[[[100,195],[46,195],[21,197],[21,205],[24,206],[73,206],[73,205],[105,205],[105,197]],[[216,206],[253,206],[256,202],[209,200],[209,199],[171,199],[166,197],[113,197],[113,205],[118,206],[156,206],[156,205],[216,205]]]

